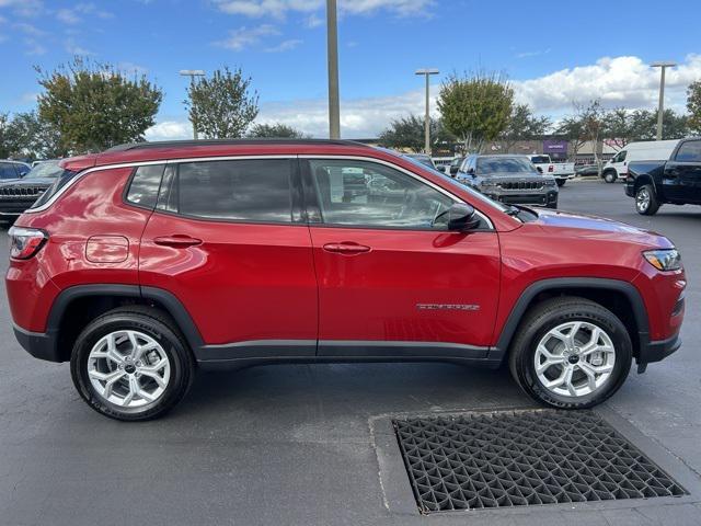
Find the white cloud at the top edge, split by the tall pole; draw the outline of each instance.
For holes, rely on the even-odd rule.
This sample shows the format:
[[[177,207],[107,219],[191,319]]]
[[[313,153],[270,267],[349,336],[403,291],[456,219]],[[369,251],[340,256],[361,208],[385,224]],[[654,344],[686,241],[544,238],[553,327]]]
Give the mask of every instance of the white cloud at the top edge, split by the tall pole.
[[[284,18],[288,12],[312,13],[325,5],[324,0],[215,0],[225,13],[251,18]],[[341,0],[338,11],[344,14],[368,14],[388,11],[399,16],[425,15],[434,0]],[[313,19],[314,22],[317,19]]]

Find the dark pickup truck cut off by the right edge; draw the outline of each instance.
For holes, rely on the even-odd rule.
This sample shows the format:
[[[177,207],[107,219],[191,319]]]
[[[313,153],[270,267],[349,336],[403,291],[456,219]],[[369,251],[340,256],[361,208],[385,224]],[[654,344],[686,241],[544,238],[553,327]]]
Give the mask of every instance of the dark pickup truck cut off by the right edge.
[[[701,138],[680,140],[669,160],[631,162],[625,195],[635,198],[643,216],[657,214],[665,203],[701,205]]]

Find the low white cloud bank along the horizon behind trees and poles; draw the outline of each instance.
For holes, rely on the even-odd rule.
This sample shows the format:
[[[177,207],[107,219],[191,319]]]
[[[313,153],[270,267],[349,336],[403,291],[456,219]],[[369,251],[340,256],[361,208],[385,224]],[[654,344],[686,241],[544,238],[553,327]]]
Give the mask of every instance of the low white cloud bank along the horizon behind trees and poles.
[[[685,111],[686,89],[701,79],[701,55],[689,55],[679,67],[667,71],[666,106]],[[514,81],[518,102],[526,102],[538,114],[558,118],[573,111],[572,103],[600,99],[605,106],[654,108],[657,105],[659,70],[637,57],[602,58],[594,65],[563,69],[536,79]],[[435,114],[439,84],[430,87]],[[393,118],[423,114],[424,92],[412,90],[390,96],[343,99],[341,130],[344,138],[377,137]],[[325,99],[263,102],[256,122],[284,123],[313,137],[329,136]],[[187,122],[166,121],[149,130],[151,137],[188,138]],[[151,139],[154,140],[154,139]]]

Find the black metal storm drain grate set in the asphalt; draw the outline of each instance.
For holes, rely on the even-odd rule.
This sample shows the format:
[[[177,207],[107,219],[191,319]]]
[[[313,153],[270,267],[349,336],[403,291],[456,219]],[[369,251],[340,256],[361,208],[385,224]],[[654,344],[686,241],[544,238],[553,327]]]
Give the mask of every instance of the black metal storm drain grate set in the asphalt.
[[[687,494],[591,411],[394,420],[423,513]]]

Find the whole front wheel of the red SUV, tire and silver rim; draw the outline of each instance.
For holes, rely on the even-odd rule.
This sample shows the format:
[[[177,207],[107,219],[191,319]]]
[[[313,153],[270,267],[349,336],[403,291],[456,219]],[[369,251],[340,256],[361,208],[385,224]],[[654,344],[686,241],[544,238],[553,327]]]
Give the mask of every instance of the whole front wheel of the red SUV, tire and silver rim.
[[[628,377],[632,344],[623,323],[584,298],[545,300],[524,320],[509,367],[533,399],[561,409],[597,405]]]

